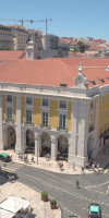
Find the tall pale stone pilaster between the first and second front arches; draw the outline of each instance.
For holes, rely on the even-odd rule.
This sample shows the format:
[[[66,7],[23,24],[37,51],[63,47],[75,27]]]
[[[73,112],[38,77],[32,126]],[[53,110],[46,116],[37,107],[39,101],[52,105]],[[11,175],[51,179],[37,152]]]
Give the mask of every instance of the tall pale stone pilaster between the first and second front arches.
[[[22,137],[21,137],[21,96],[16,96],[16,145],[15,153],[22,153]]]

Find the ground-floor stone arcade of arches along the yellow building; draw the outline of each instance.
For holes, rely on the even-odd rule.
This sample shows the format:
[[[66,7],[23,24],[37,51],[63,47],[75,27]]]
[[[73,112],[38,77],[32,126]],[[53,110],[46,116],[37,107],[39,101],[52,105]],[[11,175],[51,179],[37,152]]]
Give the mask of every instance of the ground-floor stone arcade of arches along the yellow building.
[[[96,158],[98,150],[105,146],[101,138],[98,142],[95,140],[94,132],[82,144],[78,135],[74,137],[68,132],[27,125],[16,128],[14,123],[4,123],[0,136],[0,149],[13,149],[16,154],[29,150],[38,157],[45,157],[49,153],[51,159],[57,159],[59,153],[65,153],[68,161],[78,166],[85,166],[90,156]]]

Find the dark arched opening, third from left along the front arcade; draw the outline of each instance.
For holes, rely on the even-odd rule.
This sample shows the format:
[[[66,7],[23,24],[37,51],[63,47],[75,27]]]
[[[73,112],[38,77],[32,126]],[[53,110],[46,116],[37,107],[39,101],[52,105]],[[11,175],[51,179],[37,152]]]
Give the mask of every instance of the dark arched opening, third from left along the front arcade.
[[[45,157],[48,153],[51,155],[51,137],[48,133],[43,132],[40,135],[41,153],[40,156]]]

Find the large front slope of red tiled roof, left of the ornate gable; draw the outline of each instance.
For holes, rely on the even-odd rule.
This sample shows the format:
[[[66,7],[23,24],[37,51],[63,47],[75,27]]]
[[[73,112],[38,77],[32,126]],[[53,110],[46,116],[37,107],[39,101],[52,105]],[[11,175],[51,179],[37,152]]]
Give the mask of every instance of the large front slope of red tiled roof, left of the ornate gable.
[[[12,60],[0,63],[0,81],[60,86],[73,85],[72,68],[61,60]],[[76,70],[74,75],[76,75]]]

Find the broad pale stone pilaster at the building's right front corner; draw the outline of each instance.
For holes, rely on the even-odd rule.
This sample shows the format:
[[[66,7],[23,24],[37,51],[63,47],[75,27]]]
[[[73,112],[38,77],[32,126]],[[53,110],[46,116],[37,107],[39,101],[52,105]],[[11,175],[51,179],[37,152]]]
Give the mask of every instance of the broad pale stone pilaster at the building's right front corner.
[[[80,166],[85,166],[87,157],[87,135],[88,135],[88,100],[72,100],[72,131],[71,145],[69,150],[69,161]]]

